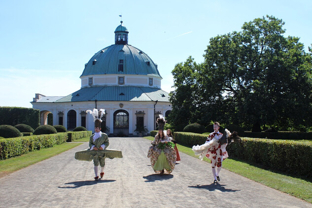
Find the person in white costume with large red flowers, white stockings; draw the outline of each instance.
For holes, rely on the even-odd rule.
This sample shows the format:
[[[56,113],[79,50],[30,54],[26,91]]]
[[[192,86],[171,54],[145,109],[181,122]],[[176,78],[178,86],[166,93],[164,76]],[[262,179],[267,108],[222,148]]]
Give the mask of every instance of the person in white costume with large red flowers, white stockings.
[[[214,122],[213,124],[214,132],[209,134],[206,143],[209,142],[211,139],[221,139],[223,134],[219,132],[219,128],[220,124],[218,122]],[[219,173],[222,168],[222,161],[229,157],[225,149],[226,146],[227,143],[221,145],[219,142],[216,142],[208,149],[206,153],[206,157],[211,160],[211,168],[214,178],[213,183],[217,183],[217,180],[220,181]]]

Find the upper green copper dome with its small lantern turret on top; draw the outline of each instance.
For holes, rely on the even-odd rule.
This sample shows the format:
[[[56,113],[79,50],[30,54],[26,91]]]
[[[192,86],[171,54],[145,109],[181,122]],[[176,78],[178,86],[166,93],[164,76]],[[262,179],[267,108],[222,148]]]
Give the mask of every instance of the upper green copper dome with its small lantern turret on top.
[[[151,58],[138,48],[128,45],[129,32],[125,26],[119,25],[114,33],[115,44],[97,52],[85,65],[81,76],[139,74],[161,78],[157,65]]]

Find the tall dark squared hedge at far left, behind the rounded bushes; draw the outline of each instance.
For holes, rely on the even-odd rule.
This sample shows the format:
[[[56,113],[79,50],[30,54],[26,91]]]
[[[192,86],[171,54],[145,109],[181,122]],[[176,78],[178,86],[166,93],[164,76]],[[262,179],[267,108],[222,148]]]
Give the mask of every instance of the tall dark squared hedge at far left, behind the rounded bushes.
[[[0,125],[27,124],[33,129],[40,125],[40,110],[27,107],[0,107]]]

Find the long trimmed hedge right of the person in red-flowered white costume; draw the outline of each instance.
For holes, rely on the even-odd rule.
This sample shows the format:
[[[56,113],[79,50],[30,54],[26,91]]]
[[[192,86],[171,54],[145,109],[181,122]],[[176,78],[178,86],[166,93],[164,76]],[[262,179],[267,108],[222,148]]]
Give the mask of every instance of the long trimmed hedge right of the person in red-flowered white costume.
[[[243,138],[228,145],[227,151],[230,157],[312,178],[312,141]]]

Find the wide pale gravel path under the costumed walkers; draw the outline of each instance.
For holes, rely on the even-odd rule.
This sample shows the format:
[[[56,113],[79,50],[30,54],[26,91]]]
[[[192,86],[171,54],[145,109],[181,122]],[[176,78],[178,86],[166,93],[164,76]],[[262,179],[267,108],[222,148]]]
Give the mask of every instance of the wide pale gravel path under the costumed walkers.
[[[27,208],[312,208],[312,204],[243,176],[221,170],[212,184],[210,164],[180,152],[172,174],[153,172],[146,157],[150,141],[110,138],[123,158],[106,159],[94,181],[93,162],[77,161],[88,143],[0,178],[0,207]],[[226,161],[225,161],[226,162]]]

